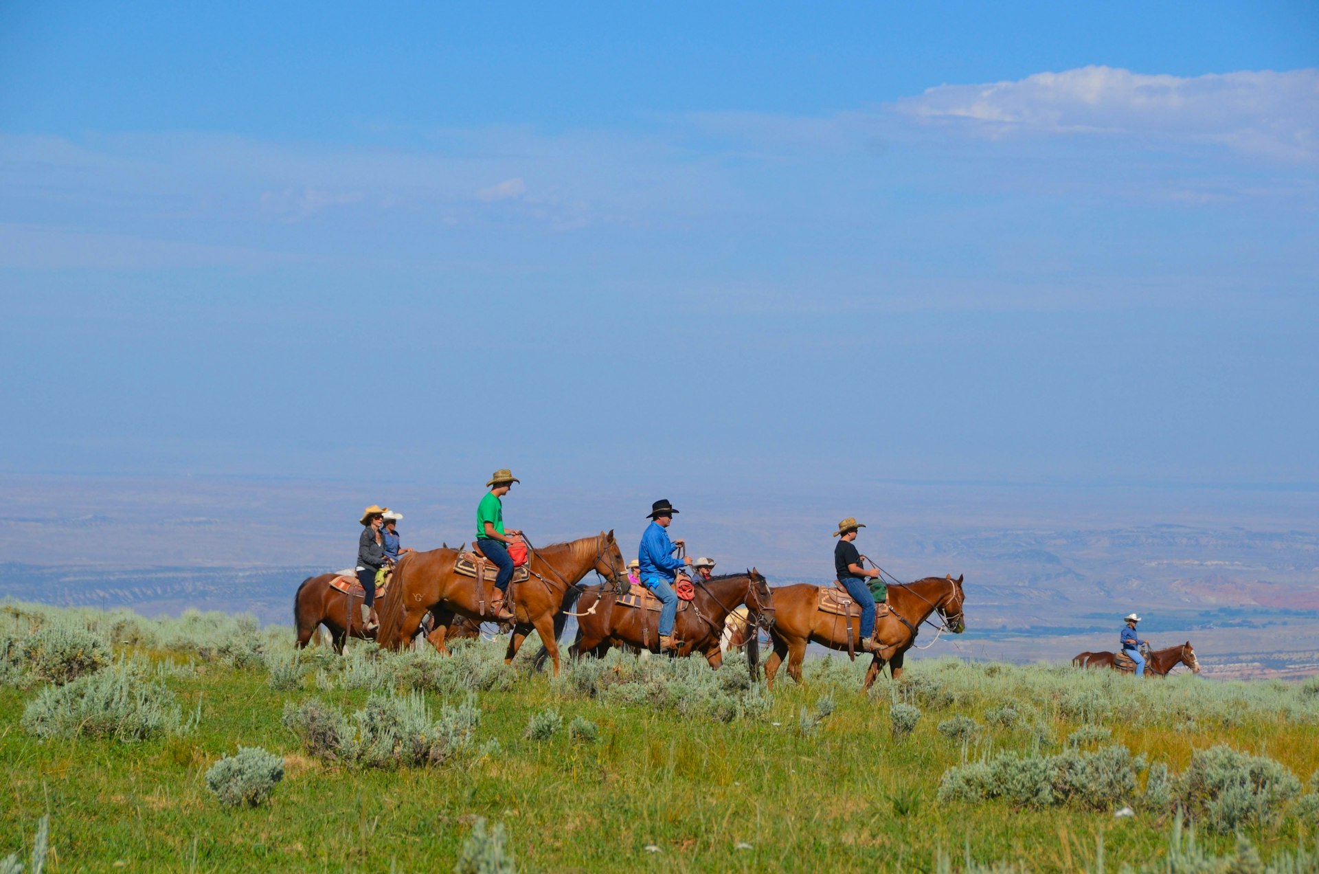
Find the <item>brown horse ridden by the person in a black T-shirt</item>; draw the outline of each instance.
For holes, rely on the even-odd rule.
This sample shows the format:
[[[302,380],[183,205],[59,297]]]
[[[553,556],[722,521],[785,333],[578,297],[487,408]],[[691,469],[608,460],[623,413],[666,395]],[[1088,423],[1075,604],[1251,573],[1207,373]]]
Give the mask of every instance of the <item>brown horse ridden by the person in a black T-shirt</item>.
[[[809,584],[774,589],[774,626],[769,628],[774,652],[765,660],[765,680],[770,688],[774,687],[774,675],[785,657],[787,676],[802,681],[807,643],[844,652],[849,647],[852,651],[861,648],[860,619],[853,617],[848,623],[843,617],[820,613],[816,609],[819,590],[820,586]],[[885,663],[894,680],[902,676],[904,656],[915,643],[917,628],[931,613],[938,611],[944,627],[954,634],[966,631],[962,615],[964,602],[962,577],[954,580],[952,574],[890,585],[888,603],[892,610],[877,617],[874,623],[874,639],[881,643],[882,650],[871,660],[861,688],[871,688]]]

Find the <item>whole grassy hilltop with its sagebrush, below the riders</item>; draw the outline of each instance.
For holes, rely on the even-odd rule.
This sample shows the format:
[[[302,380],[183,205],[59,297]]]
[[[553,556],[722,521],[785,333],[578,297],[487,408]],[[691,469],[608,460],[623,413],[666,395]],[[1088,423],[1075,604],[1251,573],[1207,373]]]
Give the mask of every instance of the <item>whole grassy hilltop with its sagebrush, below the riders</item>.
[[[768,693],[740,659],[501,655],[8,605],[0,857],[49,815],[47,871],[1319,867],[1315,680],[934,660],[867,696],[844,657]],[[208,788],[240,746],[282,758],[256,807]]]

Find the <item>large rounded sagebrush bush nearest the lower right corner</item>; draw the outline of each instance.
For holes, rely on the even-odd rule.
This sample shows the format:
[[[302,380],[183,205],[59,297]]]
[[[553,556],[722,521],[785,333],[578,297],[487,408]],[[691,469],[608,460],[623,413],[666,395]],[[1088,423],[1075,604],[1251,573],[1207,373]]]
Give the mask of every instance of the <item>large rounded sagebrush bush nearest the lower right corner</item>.
[[[1178,783],[1187,813],[1221,833],[1274,825],[1301,793],[1301,780],[1273,759],[1221,745],[1196,750]]]

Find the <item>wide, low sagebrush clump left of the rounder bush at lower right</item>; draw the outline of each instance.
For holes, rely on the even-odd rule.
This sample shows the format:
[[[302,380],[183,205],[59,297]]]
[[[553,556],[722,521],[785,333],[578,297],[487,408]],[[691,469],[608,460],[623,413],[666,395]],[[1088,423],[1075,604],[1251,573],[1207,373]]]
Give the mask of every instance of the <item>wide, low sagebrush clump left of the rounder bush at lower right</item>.
[[[1136,795],[1136,774],[1145,767],[1125,746],[1058,755],[1002,753],[984,762],[948,768],[939,782],[940,801],[1004,799],[1018,807],[1068,801],[1108,809]]]

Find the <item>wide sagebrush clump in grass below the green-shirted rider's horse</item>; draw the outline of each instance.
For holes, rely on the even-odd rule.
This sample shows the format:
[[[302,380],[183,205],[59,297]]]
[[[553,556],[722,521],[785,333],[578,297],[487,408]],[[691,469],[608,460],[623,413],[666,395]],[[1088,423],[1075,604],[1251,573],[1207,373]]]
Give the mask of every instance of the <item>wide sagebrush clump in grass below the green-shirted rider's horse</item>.
[[[307,751],[377,768],[443,763],[471,747],[479,722],[471,697],[456,708],[446,704],[437,720],[417,692],[375,692],[351,716],[317,698],[284,705],[284,725],[302,738]]]

